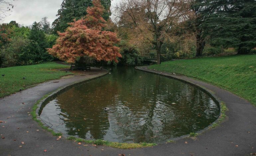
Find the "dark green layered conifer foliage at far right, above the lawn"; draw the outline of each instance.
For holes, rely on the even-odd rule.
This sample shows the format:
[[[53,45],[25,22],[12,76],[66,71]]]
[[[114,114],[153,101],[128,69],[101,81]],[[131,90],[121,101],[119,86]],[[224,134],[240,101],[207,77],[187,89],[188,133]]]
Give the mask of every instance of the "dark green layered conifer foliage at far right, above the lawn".
[[[215,13],[203,23],[210,29],[207,33],[218,44],[237,47],[238,54],[250,52],[256,46],[255,0],[223,0],[214,5]]]

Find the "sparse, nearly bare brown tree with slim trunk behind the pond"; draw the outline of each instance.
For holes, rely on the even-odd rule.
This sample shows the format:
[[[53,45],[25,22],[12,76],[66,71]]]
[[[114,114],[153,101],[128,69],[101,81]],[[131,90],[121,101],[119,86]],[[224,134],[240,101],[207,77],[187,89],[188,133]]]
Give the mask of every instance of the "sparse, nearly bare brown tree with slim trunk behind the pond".
[[[175,37],[175,29],[192,15],[189,0],[122,0],[114,7],[119,27],[129,29],[135,42],[155,45],[160,64],[161,47]]]

